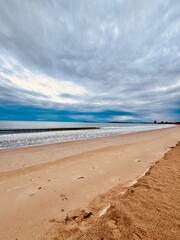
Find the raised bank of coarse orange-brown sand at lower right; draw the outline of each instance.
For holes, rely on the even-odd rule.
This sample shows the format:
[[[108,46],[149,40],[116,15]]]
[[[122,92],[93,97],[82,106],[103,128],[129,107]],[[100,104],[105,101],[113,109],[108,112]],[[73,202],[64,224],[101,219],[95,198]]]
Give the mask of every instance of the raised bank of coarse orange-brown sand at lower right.
[[[117,186],[87,209],[70,212],[43,240],[180,239],[180,142],[121,193]]]

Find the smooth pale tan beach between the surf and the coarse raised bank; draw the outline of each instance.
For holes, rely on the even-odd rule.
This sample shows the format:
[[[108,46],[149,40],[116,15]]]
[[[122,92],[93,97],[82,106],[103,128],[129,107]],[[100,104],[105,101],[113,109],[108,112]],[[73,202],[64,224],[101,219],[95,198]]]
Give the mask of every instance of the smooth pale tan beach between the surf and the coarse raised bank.
[[[96,231],[93,228],[94,221],[104,219],[112,207],[116,212],[118,206],[115,203],[112,205],[111,200],[116,202],[116,197],[126,192],[128,186],[133,185],[154,162],[177,144],[179,136],[180,127],[174,127],[0,151],[0,237],[5,240],[68,239],[68,236],[69,239],[80,239],[78,235],[78,238],[73,238],[78,232],[82,237],[85,236],[82,239],[119,239],[110,238],[112,233],[108,228],[107,234],[110,235],[99,238],[101,235],[98,236],[97,232],[101,232],[100,225],[103,228],[104,225],[103,222],[98,223],[100,225],[97,225]],[[108,195],[109,189],[111,194]],[[145,200],[146,196],[144,202]],[[131,200],[128,206],[131,206]],[[136,204],[132,202],[129,211],[138,206],[138,201]],[[144,210],[140,208],[139,211],[145,210],[147,206],[144,203]],[[102,216],[96,218],[97,214]],[[78,218],[74,215],[78,215]],[[93,237],[86,235],[90,234],[87,231],[87,221],[78,220],[84,218],[88,220],[88,227],[92,228],[90,232],[94,234]],[[80,227],[78,230],[76,225],[74,230],[72,219],[76,219]],[[126,225],[128,224],[127,220]],[[67,227],[70,229],[68,236]],[[58,229],[63,234],[65,232],[64,238],[57,235]],[[114,229],[119,234],[119,230]],[[138,239],[138,236],[134,239]]]

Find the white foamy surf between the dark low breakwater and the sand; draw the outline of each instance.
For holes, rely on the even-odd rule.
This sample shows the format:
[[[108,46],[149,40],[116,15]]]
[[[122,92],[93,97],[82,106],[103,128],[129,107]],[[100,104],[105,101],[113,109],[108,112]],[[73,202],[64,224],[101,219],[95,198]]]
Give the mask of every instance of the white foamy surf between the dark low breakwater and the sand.
[[[110,125],[110,124],[109,124]],[[155,125],[155,124],[116,124],[107,126],[107,124],[97,124],[100,129],[95,130],[72,130],[57,132],[33,132],[33,133],[15,133],[0,135],[0,149],[17,148],[24,146],[43,145],[58,142],[67,142],[75,140],[85,140],[104,136],[116,136],[120,134],[141,132],[146,130],[168,128],[173,125]]]

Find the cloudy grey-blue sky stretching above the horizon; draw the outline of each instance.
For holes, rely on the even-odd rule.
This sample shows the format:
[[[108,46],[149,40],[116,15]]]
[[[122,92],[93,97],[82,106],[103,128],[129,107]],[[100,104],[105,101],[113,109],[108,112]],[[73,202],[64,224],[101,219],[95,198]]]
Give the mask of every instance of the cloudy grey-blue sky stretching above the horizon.
[[[180,121],[180,0],[0,0],[0,120]]]

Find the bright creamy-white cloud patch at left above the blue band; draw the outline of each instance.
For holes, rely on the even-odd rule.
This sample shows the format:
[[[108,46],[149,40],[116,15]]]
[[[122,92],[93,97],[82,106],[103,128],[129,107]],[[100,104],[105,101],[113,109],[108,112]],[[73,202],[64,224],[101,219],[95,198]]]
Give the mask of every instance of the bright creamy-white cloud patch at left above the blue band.
[[[1,57],[1,61],[2,60],[4,59]],[[17,69],[21,70],[18,71]],[[10,71],[10,73],[8,71]],[[20,66],[19,63],[12,58],[9,58],[8,63],[4,60],[4,64],[2,64],[0,83],[2,79],[8,79],[7,85],[22,90],[22,94],[24,90],[39,94],[39,96],[36,95],[35,98],[38,98],[40,101],[47,99],[55,103],[78,104],[78,100],[63,98],[61,95],[82,96],[87,94],[87,90],[84,87],[72,81],[55,79],[42,73],[32,72]],[[6,85],[4,80],[3,84]],[[32,98],[33,97],[34,96],[32,96]],[[16,99],[14,99],[14,101],[16,101]]]

